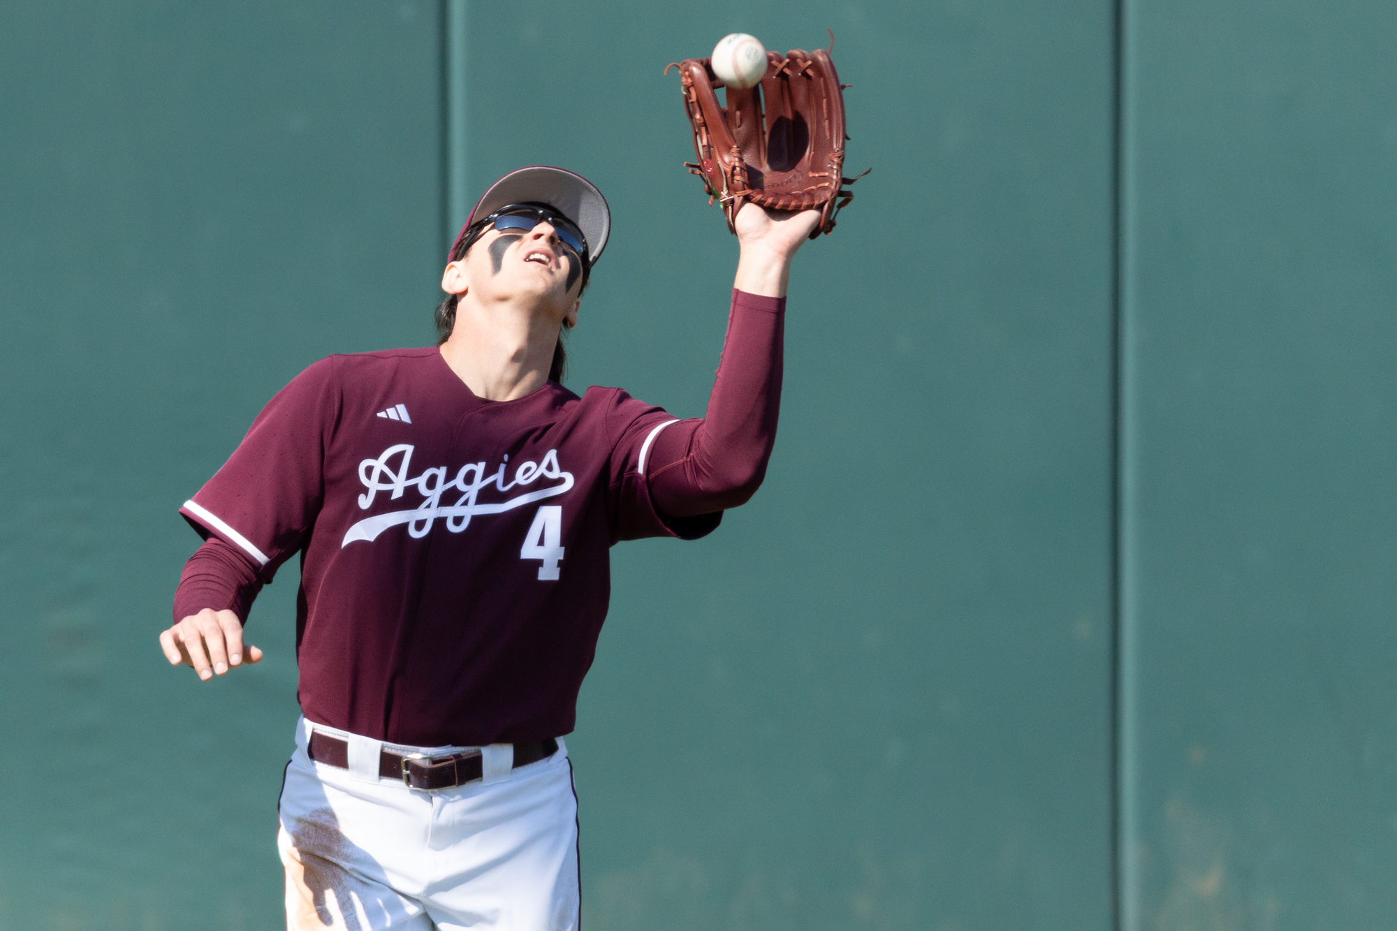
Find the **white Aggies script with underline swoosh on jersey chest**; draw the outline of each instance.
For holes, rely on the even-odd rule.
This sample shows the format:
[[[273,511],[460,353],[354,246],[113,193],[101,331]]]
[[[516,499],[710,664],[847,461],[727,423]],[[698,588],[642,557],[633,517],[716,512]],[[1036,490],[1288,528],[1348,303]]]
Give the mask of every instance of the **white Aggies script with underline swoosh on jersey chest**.
[[[509,459],[506,456],[493,472],[485,471],[485,463],[468,463],[450,481],[446,477],[446,466],[436,466],[427,468],[416,478],[408,478],[408,470],[412,463],[412,446],[408,443],[390,446],[383,450],[383,456],[379,459],[366,459],[359,463],[359,481],[369,489],[359,495],[359,507],[367,510],[379,492],[388,492],[388,500],[397,500],[409,488],[416,488],[423,500],[416,507],[408,510],[390,510],[373,517],[365,517],[349,528],[339,547],[348,547],[356,540],[372,542],[384,530],[397,527],[398,524],[408,524],[408,534],[414,538],[426,537],[437,517],[444,517],[446,528],[453,534],[458,534],[471,524],[471,517],[475,514],[499,514],[506,510],[514,510],[535,500],[562,495],[573,486],[573,474],[564,472],[557,464],[556,449],[548,450],[538,463],[524,461],[515,466],[513,479],[507,477]],[[397,460],[397,468],[394,468],[394,460]],[[532,485],[539,479],[556,481],[559,484],[522,492],[504,500],[476,500],[481,491],[486,488],[493,486],[500,493],[504,493],[514,488]],[[441,495],[453,489],[461,492],[461,496],[455,499],[455,503],[443,505]]]

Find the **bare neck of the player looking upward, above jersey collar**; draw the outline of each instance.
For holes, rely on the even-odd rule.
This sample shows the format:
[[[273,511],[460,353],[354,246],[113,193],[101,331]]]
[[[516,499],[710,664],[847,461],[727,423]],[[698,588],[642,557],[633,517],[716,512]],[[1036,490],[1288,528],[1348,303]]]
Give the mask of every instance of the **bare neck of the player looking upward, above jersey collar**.
[[[542,308],[465,294],[441,358],[476,397],[513,401],[548,382],[559,327]]]

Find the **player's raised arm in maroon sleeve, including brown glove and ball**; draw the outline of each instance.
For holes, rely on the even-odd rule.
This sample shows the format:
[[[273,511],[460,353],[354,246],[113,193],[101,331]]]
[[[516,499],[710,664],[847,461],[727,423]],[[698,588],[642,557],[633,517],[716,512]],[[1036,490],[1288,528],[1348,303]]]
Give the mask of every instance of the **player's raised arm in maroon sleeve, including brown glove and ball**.
[[[650,459],[637,457],[671,530],[673,519],[743,503],[761,484],[775,442],[791,259],[809,236],[834,229],[858,180],[844,176],[845,85],[828,52],[781,56],[733,34],[712,56],[675,67],[693,130],[687,166],[708,203],[722,207],[742,253],[708,415],[657,425]]]

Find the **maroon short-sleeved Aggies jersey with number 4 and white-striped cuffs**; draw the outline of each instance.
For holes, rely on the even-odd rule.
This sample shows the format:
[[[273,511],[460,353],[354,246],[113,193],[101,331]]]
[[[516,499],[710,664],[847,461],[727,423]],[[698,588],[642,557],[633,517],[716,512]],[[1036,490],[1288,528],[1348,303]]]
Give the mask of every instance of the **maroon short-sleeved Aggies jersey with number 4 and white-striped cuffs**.
[[[672,421],[556,382],[483,401],[436,348],[338,355],[278,393],[180,513],[263,577],[305,548],[309,719],[401,744],[535,741],[573,727],[609,547],[675,535],[637,472]]]

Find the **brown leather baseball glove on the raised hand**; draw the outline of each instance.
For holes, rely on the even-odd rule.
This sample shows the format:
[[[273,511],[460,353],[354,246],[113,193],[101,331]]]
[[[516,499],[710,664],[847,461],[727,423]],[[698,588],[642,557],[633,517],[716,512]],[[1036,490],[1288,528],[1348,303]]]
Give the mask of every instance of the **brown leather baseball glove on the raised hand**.
[[[830,49],[834,34],[830,34]],[[717,200],[728,229],[747,201],[773,210],[819,210],[810,233],[834,229],[834,217],[854,194],[844,176],[844,87],[824,49],[793,49],[782,57],[767,52],[767,73],[752,89],[726,88],[726,106],[714,89],[724,87],[710,59],[687,59],[679,68],[685,112],[694,131],[697,162],[685,162],[704,179],[708,203]]]

